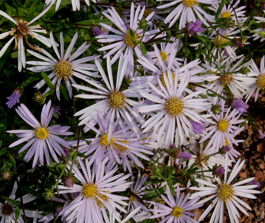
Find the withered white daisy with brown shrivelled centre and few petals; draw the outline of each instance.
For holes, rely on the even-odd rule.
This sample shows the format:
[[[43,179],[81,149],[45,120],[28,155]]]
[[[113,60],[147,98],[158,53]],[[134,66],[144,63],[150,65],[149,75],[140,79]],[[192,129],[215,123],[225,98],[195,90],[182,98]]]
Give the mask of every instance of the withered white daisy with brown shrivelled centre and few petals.
[[[30,24],[35,22],[37,19],[42,17],[47,11],[49,11],[49,9],[51,7],[52,7],[52,4],[50,6],[48,6],[41,14],[39,14],[34,19],[32,19],[30,22],[23,21],[22,19],[19,19],[19,20],[15,19],[14,20],[13,18],[11,18],[11,16],[9,16],[8,14],[6,14],[5,12],[0,10],[1,16],[4,16],[6,19],[9,19],[11,22],[13,22],[15,24],[15,27],[12,28],[11,31],[0,34],[0,39],[4,39],[5,37],[7,37],[9,35],[13,36],[13,34],[15,34],[15,36],[13,36],[6,43],[6,45],[1,49],[0,58],[1,58],[1,56],[3,56],[6,49],[9,47],[9,45],[12,43],[12,41],[15,40],[14,50],[18,49],[18,70],[19,70],[19,72],[21,72],[22,66],[23,66],[23,68],[25,68],[25,66],[26,66],[26,55],[25,55],[25,51],[24,51],[23,38],[25,38],[28,46],[34,50],[41,51],[41,49],[39,49],[38,47],[32,46],[32,44],[30,44],[28,42],[28,35],[30,35],[32,38],[36,38],[37,40],[39,40],[40,42],[42,42],[43,44],[45,44],[48,47],[52,46],[51,41],[48,38],[36,33],[36,32],[39,32],[39,33],[47,34],[46,30],[42,29],[42,27],[40,27],[39,25],[29,26]]]

